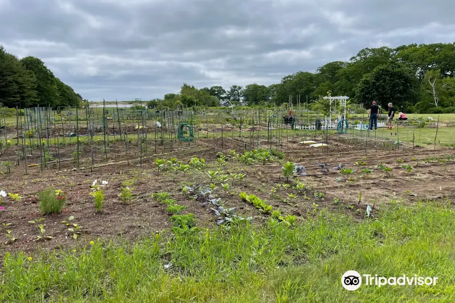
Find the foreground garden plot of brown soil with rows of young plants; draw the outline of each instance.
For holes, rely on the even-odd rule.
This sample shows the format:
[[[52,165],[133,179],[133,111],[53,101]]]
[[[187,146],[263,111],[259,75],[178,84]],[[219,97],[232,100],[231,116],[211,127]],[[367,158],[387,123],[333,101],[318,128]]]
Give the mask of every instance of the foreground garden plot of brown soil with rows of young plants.
[[[362,220],[368,208],[376,216],[391,198],[455,196],[451,148],[365,150],[333,138],[313,148],[299,144],[304,139],[250,151],[239,140],[226,140],[222,150],[219,140],[198,140],[191,148],[163,149],[142,168],[122,162],[126,155],[93,172],[89,159],[81,161],[83,169],[67,162],[28,175],[12,167],[0,188],[11,194],[2,197],[2,250],[73,247],[97,238],[134,241],[173,226],[237,219],[260,224],[272,217],[292,225],[325,209]],[[296,176],[294,165],[305,174]],[[50,199],[64,202],[61,211],[40,210],[40,192],[52,192],[50,186],[58,190]],[[97,209],[98,191],[104,197]]]

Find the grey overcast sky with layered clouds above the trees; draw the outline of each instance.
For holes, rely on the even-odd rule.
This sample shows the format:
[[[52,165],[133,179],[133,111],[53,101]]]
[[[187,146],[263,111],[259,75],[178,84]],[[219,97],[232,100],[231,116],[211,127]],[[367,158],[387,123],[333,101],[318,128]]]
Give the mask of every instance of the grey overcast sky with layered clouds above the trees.
[[[454,0],[0,0],[0,43],[90,100],[258,83],[364,47],[455,41]]]

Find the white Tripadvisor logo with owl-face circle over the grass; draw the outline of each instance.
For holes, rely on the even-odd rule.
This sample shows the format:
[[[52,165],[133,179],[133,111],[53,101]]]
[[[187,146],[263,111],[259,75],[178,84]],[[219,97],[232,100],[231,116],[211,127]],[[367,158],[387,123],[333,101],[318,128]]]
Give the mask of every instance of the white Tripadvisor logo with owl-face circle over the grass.
[[[378,287],[384,285],[436,285],[438,277],[418,277],[402,275],[400,277],[381,277],[378,275],[360,275],[355,270],[348,270],[341,277],[341,284],[347,290],[357,290],[362,281],[365,285],[375,285]]]

